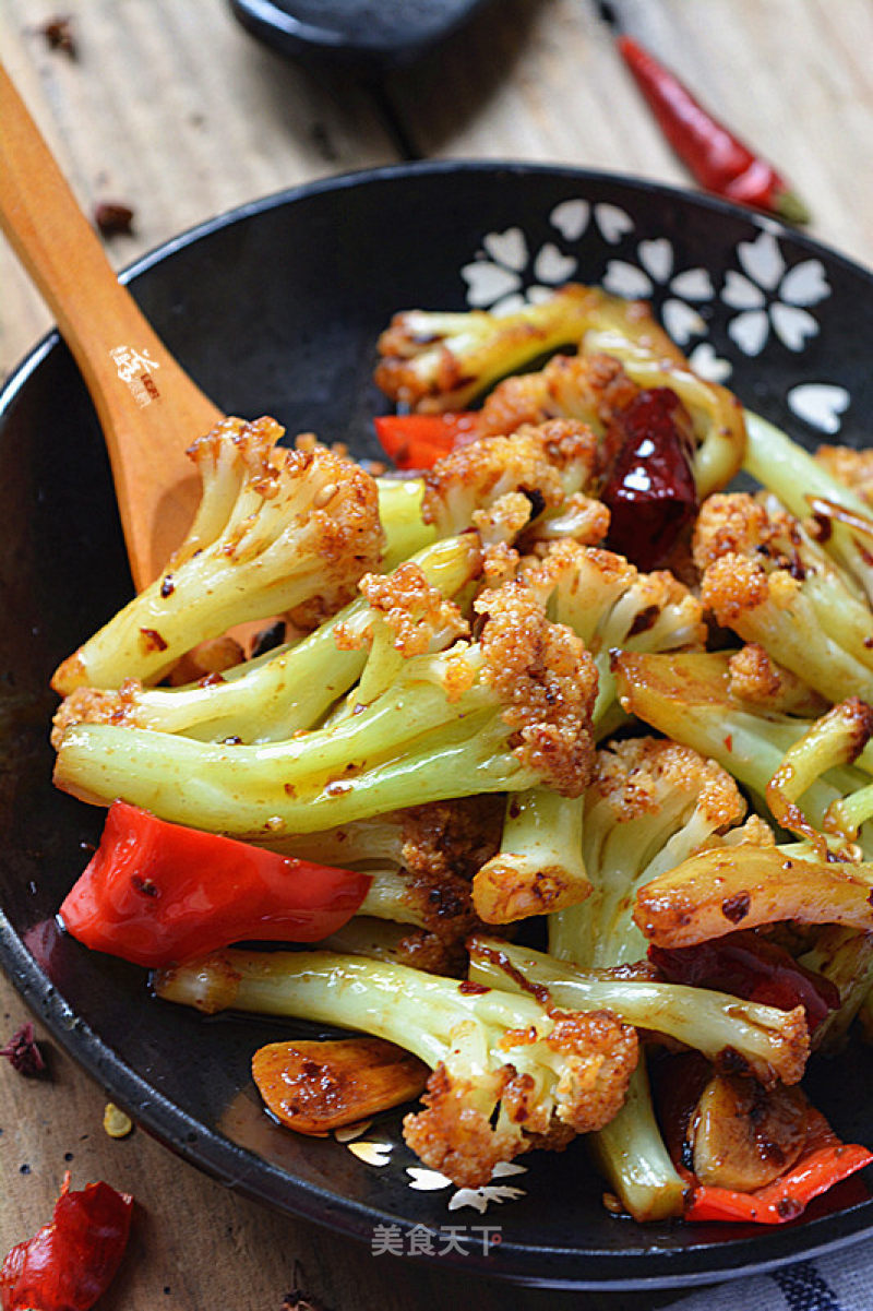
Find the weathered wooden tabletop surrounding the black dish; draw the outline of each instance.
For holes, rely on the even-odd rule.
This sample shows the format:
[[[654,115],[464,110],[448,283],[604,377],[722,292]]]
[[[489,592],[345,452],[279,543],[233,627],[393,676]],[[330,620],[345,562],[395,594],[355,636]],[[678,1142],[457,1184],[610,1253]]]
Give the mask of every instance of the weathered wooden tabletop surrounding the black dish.
[[[775,160],[811,232],[873,265],[869,0],[621,0],[627,29]],[[42,24],[69,14],[77,55]],[[242,201],[404,157],[562,161],[686,184],[616,58],[594,0],[499,0],[414,67],[372,81],[291,63],[224,0],[4,0],[0,59],[80,202],[122,201],[117,267]],[[0,126],[1,130],[1,126]],[[0,241],[0,376],[50,325]],[[0,1041],[26,1019],[0,978]],[[45,1036],[45,1034],[41,1034]],[[48,1044],[51,1047],[51,1044]],[[570,1294],[471,1282],[241,1200],[136,1130],[102,1129],[105,1093],[56,1047],[51,1079],[0,1062],[0,1249],[50,1215],[64,1169],[139,1202],[105,1311],[279,1311],[295,1282],[329,1311],[456,1307],[644,1311],[669,1294]]]

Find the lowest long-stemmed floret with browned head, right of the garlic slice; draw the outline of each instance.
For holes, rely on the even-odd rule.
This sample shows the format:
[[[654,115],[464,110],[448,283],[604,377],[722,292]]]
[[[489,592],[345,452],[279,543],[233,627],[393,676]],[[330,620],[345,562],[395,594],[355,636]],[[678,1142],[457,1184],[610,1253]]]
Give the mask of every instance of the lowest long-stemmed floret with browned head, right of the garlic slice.
[[[333,952],[216,952],[161,970],[159,996],[360,1029],[434,1074],[404,1121],[426,1165],[460,1186],[531,1147],[561,1147],[611,1120],[637,1063],[637,1034],[610,1011],[552,1011],[532,996]]]

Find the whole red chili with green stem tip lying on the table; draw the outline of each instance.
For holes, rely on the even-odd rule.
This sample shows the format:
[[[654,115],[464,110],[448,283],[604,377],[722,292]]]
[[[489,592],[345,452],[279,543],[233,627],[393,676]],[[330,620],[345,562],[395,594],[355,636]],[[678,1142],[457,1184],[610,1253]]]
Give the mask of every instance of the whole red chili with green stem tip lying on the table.
[[[809,223],[806,206],[772,164],[714,119],[675,73],[633,37],[619,37],[617,46],[661,131],[703,187],[788,223]]]

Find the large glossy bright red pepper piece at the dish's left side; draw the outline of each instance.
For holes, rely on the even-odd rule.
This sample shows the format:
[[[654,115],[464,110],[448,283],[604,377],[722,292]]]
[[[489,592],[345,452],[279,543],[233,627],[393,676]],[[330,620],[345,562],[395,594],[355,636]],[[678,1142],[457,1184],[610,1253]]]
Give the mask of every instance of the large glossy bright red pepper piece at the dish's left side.
[[[368,888],[368,874],[279,856],[115,801],[60,918],[87,947],[153,969],[245,939],[328,937]]]

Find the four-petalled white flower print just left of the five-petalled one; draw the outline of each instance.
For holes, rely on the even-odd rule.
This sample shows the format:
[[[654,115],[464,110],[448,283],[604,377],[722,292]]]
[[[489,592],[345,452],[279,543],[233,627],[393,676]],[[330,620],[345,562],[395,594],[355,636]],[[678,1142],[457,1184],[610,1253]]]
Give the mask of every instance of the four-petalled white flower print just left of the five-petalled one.
[[[670,295],[661,305],[661,320],[679,346],[686,346],[692,337],[703,337],[707,320],[696,304],[712,300],[716,291],[705,269],[684,269],[675,271],[675,253],[667,237],[653,237],[637,246],[638,265],[625,260],[610,260],[603,286],[616,296],[650,300],[658,287],[666,287]]]

